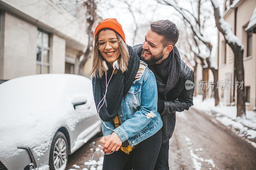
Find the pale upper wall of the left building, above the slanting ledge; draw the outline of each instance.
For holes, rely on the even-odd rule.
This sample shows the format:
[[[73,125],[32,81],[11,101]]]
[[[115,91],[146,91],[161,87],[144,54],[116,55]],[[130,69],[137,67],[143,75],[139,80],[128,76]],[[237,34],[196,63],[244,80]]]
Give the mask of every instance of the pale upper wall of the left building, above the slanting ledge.
[[[3,0],[3,2],[75,41],[87,44],[86,17],[83,10],[80,11],[81,17],[77,19],[51,0]]]

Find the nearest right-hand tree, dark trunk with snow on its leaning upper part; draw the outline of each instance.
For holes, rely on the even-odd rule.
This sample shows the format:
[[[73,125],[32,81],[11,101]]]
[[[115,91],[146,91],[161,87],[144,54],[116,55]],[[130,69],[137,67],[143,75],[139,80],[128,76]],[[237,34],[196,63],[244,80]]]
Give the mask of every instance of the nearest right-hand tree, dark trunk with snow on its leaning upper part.
[[[218,30],[224,36],[226,43],[232,49],[234,53],[235,71],[237,82],[244,82],[244,63],[243,54],[244,46],[239,40],[239,38],[232,32],[231,26],[223,19],[220,14],[219,3],[216,0],[211,0],[214,9],[214,18]],[[244,83],[242,83],[242,88],[237,88],[237,115],[245,115],[245,92]]]

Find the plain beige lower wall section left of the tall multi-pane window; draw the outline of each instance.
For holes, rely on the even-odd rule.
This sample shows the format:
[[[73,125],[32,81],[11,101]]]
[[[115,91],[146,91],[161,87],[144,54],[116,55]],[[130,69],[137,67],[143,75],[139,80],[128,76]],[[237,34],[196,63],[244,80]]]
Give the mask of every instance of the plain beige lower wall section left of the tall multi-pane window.
[[[36,35],[36,26],[5,13],[2,79],[36,74]]]

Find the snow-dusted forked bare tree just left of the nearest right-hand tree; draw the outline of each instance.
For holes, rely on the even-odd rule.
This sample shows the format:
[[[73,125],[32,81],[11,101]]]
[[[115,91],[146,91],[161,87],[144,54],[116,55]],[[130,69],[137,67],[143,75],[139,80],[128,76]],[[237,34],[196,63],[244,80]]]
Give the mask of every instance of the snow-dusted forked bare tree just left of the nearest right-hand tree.
[[[216,88],[217,81],[218,81],[218,68],[216,66],[214,66],[214,64],[211,63],[211,60],[210,60],[211,52],[212,52],[212,43],[210,41],[208,41],[206,36],[203,34],[205,18],[203,21],[200,18],[200,16],[201,16],[201,0],[197,1],[197,10],[196,10],[197,16],[194,13],[194,11],[189,11],[187,9],[184,9],[181,6],[178,6],[177,5],[178,3],[174,3],[173,1],[167,1],[167,0],[156,0],[156,1],[160,4],[172,6],[176,11],[178,11],[181,14],[182,18],[188,23],[188,25],[192,31],[192,34],[193,34],[193,39],[194,39],[195,45],[198,47],[198,53],[195,53],[195,51],[194,51],[194,54],[201,61],[201,65],[203,68],[203,73],[202,73],[203,74],[203,82],[206,82],[206,85],[208,83],[206,73],[208,72],[209,69],[212,70],[213,77],[214,77],[215,106],[218,105],[219,92],[218,92],[218,89]],[[191,2],[191,6],[193,7],[192,2]],[[206,56],[203,56],[202,53],[200,53],[199,47],[201,47],[201,46],[199,46],[198,43],[203,43],[206,46],[206,51],[208,51]],[[201,51],[205,51],[205,50],[201,50]],[[207,94],[207,89],[204,88],[203,89],[203,100],[206,98],[206,96],[207,96],[206,94]]]

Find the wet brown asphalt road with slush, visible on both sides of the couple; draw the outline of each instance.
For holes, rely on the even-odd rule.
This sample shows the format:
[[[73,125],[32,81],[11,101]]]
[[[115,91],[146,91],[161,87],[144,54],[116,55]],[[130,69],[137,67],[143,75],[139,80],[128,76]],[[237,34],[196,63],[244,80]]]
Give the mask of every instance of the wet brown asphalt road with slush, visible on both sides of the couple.
[[[170,169],[255,170],[256,149],[253,150],[237,140],[234,135],[229,134],[230,132],[220,128],[223,125],[218,121],[212,123],[207,116],[193,109],[176,113],[176,126],[170,139]],[[101,169],[98,165],[84,165],[84,162],[92,159],[96,148],[101,149],[98,146],[99,140],[100,137],[92,138],[70,155],[66,169]],[[101,153],[96,152],[93,159],[98,161],[100,156]],[[80,168],[72,167],[74,164]]]

